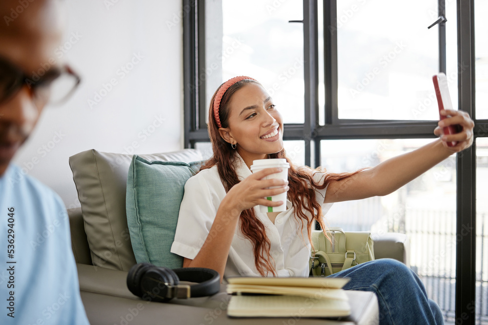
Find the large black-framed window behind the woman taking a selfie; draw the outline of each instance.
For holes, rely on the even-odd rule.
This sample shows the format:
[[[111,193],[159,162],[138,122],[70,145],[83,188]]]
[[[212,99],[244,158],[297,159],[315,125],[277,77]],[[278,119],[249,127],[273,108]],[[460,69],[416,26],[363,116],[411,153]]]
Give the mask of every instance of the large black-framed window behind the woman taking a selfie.
[[[336,204],[327,217],[348,230],[407,233],[411,267],[447,324],[488,324],[488,226],[475,201],[487,188],[486,1],[192,4],[183,0],[185,147],[207,156],[210,97],[232,76],[252,76],[273,96],[295,163],[346,172],[432,141],[431,77],[446,73],[454,107],[476,118],[476,145],[391,195]]]

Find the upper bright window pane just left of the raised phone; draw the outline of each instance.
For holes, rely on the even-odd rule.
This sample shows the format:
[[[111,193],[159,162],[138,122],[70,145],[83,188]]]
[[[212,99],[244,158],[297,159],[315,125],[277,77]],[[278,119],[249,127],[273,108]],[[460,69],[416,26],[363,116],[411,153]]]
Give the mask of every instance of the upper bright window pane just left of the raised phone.
[[[437,2],[337,1],[339,118],[439,118]]]

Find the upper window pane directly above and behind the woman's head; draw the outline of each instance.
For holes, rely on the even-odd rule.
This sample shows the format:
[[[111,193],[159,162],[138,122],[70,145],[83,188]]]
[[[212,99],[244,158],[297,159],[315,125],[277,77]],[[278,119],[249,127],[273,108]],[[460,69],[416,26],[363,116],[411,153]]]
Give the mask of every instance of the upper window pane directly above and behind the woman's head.
[[[285,123],[304,123],[303,1],[205,1],[206,102],[234,76],[260,81]],[[220,11],[219,11],[220,10]]]

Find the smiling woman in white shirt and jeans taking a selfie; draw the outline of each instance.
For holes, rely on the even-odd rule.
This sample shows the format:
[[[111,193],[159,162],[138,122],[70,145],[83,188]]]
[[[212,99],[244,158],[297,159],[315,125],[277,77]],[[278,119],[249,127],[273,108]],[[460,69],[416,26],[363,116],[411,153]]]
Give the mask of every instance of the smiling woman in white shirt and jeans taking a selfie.
[[[221,280],[239,275],[308,276],[312,225],[316,221],[325,229],[327,203],[396,191],[472,144],[469,116],[458,111],[442,114],[451,115],[443,120],[443,127],[459,124],[463,131],[443,135],[437,128],[434,134],[442,135],[441,139],[413,152],[370,169],[330,173],[297,167],[287,158],[282,116],[258,81],[246,76],[227,80],[210,101],[213,156],[185,184],[171,252],[184,257],[183,267],[212,268]],[[452,140],[460,142],[447,147]],[[268,158],[288,161],[288,181],[264,179],[281,172],[280,168],[251,173],[254,160]],[[286,191],[286,202],[265,199]],[[284,203],[286,210],[280,213],[257,209]],[[427,298],[417,275],[401,263],[371,261],[332,276],[350,277],[345,289],[377,293],[382,324],[443,324],[439,306]]]

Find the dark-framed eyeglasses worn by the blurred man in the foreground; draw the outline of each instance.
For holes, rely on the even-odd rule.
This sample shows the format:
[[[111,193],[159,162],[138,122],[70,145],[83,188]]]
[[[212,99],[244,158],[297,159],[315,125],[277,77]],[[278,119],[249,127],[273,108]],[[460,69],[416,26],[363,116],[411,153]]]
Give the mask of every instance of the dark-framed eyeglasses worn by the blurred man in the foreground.
[[[73,94],[80,81],[67,65],[27,76],[19,67],[0,57],[0,105],[12,99],[24,85],[38,108],[59,105]]]

